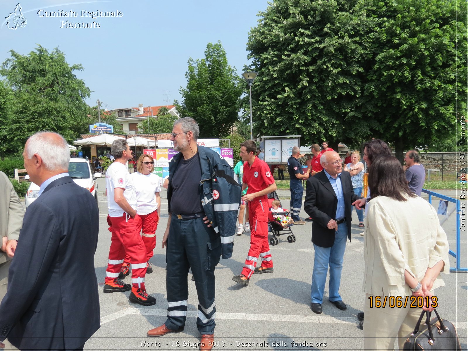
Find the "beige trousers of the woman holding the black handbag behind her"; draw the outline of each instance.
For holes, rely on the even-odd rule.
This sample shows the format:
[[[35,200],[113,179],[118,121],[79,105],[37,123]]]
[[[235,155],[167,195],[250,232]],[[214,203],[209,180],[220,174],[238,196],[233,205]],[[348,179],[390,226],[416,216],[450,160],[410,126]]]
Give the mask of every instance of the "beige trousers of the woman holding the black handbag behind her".
[[[366,294],[364,304],[364,350],[394,351],[397,337],[398,348],[402,350],[406,338],[416,326],[422,308],[409,308],[409,303],[406,308],[371,308],[369,296]]]

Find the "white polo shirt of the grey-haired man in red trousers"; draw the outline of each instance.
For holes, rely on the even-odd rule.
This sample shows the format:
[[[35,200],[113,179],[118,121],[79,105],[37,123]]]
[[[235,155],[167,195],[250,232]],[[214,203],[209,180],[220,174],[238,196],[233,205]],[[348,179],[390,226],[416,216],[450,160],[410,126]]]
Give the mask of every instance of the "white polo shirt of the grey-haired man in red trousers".
[[[126,165],[120,162],[112,163],[106,172],[106,189],[107,189],[107,208],[109,209],[110,217],[122,217],[124,210],[117,205],[114,200],[114,189],[124,189],[124,197],[132,209],[137,209],[137,197],[135,194],[135,186],[133,179],[128,173]]]

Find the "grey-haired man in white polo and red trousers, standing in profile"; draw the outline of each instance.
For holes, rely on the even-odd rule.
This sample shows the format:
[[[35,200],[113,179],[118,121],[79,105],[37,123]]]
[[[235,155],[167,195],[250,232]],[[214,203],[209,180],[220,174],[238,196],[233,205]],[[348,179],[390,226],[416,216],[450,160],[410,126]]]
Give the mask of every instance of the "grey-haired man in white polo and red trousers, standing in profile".
[[[115,162],[106,172],[107,223],[112,233],[109,263],[106,270],[104,292],[129,291],[129,300],[140,305],[156,303],[145,289],[146,248],[137,227],[137,198],[133,180],[128,173],[127,161],[133,158],[132,150],[124,139],[115,140],[111,146]],[[132,285],[118,278],[125,252],[131,257]]]

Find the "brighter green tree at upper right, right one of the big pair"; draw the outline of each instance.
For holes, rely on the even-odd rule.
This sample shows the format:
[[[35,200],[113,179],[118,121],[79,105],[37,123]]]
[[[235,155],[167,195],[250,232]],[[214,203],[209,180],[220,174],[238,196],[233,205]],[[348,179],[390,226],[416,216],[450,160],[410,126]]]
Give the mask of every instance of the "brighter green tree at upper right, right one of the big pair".
[[[467,6],[456,0],[372,4],[379,26],[362,111],[378,118],[373,136],[394,142],[403,161],[403,150],[450,137],[457,111],[466,110]]]

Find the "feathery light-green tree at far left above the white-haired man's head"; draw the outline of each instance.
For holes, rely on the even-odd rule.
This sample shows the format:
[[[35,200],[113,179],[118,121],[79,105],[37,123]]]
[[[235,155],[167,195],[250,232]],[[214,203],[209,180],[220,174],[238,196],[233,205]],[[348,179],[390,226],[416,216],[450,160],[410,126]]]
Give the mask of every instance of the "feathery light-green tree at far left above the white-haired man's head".
[[[65,55],[55,48],[50,53],[38,45],[35,51],[21,55],[13,50],[0,69],[13,89],[10,124],[0,126],[10,136],[9,148],[16,151],[33,133],[50,130],[72,141],[88,130],[88,105],[84,99],[90,90],[73,73],[79,64],[69,65]]]

